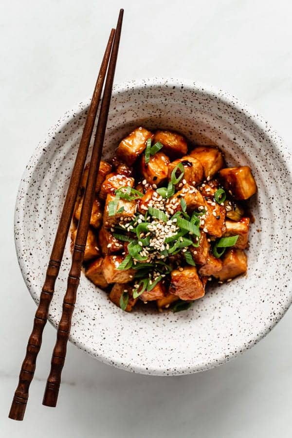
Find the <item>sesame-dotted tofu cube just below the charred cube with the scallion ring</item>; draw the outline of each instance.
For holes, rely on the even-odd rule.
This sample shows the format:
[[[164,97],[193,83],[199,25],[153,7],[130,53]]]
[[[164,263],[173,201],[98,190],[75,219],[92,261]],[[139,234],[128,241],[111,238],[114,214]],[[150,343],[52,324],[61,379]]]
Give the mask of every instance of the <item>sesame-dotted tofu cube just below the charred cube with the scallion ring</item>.
[[[189,184],[184,184],[182,190],[176,192],[166,202],[166,209],[170,212],[170,214],[176,213],[177,211],[182,211],[182,198],[186,203],[186,209],[188,212],[192,212],[201,206],[204,207],[206,203],[201,195],[201,192],[197,190],[196,187]]]

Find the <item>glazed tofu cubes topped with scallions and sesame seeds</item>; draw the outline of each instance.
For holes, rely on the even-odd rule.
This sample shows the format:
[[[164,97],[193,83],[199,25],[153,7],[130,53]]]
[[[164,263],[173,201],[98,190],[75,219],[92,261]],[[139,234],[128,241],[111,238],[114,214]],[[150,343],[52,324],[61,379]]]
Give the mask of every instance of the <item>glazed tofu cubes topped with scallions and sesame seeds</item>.
[[[84,170],[72,242],[88,176]],[[134,129],[110,163],[100,164],[84,255],[86,276],[131,311],[188,309],[208,281],[247,271],[257,187],[249,166],[226,167],[214,146],[191,146],[176,132]]]

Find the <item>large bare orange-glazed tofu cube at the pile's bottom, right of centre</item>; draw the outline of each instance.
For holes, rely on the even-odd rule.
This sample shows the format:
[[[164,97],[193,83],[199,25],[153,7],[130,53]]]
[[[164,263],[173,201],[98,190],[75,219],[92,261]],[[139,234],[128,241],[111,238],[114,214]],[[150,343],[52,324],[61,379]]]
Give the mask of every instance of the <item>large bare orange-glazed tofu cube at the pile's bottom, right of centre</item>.
[[[183,271],[174,269],[171,272],[169,291],[182,300],[197,300],[205,291],[195,266],[185,266]]]

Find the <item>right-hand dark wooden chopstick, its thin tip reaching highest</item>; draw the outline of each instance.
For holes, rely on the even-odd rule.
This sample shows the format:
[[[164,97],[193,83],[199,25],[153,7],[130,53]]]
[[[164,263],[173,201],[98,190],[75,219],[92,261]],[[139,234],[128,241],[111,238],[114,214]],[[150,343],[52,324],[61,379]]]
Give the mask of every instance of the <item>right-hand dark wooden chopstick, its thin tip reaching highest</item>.
[[[110,98],[113,84],[113,77],[116,67],[119,42],[122,29],[124,10],[120,10],[114,41],[112,45],[112,52],[110,56],[109,70],[107,74],[104,95],[100,107],[100,113],[96,128],[94,144],[92,148],[91,163],[89,167],[89,174],[82,202],[81,215],[78,223],[73,256],[70,273],[68,276],[67,291],[63,300],[62,316],[58,325],[57,339],[53,351],[51,361],[51,371],[47,380],[47,385],[44,393],[43,404],[45,406],[55,407],[59,387],[61,383],[61,373],[65,362],[67,342],[70,335],[72,315],[74,305],[76,302],[76,293],[79,285],[79,278],[81,266],[84,257],[84,250],[86,245],[87,234],[89,230],[91,210],[94,198],[95,183],[100,164],[102,147],[106,132],[106,125],[108,121]]]

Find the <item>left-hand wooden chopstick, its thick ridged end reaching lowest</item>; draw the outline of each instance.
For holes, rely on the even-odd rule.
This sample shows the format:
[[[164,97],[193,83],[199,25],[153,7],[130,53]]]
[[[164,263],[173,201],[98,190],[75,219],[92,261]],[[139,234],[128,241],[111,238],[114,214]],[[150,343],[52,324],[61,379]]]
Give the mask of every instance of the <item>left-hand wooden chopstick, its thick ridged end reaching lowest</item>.
[[[54,294],[55,281],[59,273],[60,264],[71,225],[78,188],[84,169],[91,134],[94,127],[94,121],[96,118],[100,96],[109,64],[114,34],[115,30],[112,29],[101,63],[100,71],[98,73],[96,85],[91,99],[91,104],[87,113],[84,130],[80,140],[80,145],[77,151],[66,199],[63,205],[59,226],[55,236],[55,242],[53,245],[51,258],[47,268],[45,282],[40,294],[39,304],[34,319],[33,330],[28,340],[26,355],[19,374],[18,386],[16,388],[9,412],[9,418],[11,418],[12,420],[23,420],[24,417],[28,400],[29,386],[34,378],[37,354],[40,350],[42,342],[42,333],[47,322],[49,306]]]

